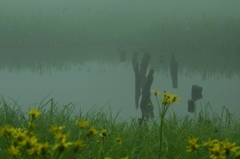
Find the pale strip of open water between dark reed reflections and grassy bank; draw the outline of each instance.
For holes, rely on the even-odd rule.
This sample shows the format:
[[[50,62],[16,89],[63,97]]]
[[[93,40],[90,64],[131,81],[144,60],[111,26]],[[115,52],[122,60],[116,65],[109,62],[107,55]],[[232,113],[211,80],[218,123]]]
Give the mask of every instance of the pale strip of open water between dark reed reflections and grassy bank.
[[[172,106],[177,115],[193,115],[188,113],[187,108],[192,85],[203,87],[203,98],[196,102],[197,112],[208,102],[217,114],[221,113],[223,106],[235,115],[240,112],[236,98],[240,94],[239,77],[229,79],[219,75],[219,79],[211,77],[203,80],[200,74],[189,78],[185,76],[185,72],[187,71],[183,70],[179,74],[177,89],[172,88],[169,73],[155,74],[152,84],[154,90],[162,92],[166,89],[179,95],[181,100]],[[10,73],[6,70],[1,70],[0,74],[0,94],[10,103],[10,98],[17,100],[23,109],[41,102],[50,93],[46,102],[51,98],[61,105],[72,102],[85,113],[93,106],[100,108],[105,105],[104,110],[108,111],[110,107],[113,115],[121,110],[119,117],[123,119],[141,116],[140,109],[136,110],[134,103],[134,72],[131,65],[126,63],[109,67],[107,64],[92,62],[81,69],[75,66],[66,71],[52,71],[51,74],[43,75],[31,71]],[[152,102],[157,114],[155,99]]]

